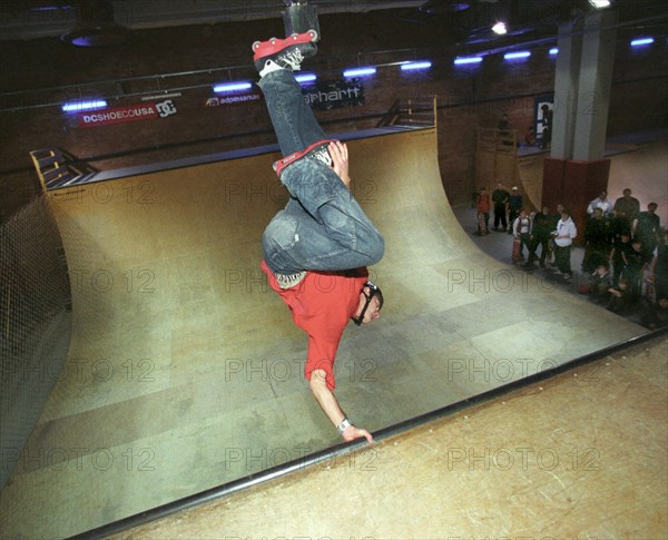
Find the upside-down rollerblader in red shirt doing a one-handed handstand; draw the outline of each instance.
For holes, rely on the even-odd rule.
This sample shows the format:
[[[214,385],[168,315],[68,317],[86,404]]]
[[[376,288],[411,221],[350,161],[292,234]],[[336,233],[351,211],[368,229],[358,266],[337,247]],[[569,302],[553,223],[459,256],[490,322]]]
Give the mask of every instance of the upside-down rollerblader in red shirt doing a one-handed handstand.
[[[381,259],[384,240],[350,190],[347,146],[327,140],[293,75],[315,53],[315,33],[253,45],[284,156],[274,170],[291,195],[264,232],[262,269],[308,334],[305,377],[317,403],[345,441],[371,443],[334,396],[334,359],[351,318],[363,325],[380,316],[383,296],[366,266]]]

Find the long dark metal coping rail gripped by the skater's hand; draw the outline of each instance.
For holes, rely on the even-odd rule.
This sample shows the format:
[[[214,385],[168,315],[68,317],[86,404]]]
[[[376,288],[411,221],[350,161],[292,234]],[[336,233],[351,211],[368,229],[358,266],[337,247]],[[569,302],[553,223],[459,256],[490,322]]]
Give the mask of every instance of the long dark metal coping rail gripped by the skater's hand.
[[[609,345],[607,347],[600,348],[598,351],[593,351],[591,353],[584,354],[577,359],[573,359],[564,364],[558,365],[550,370],[541,371],[533,375],[529,375],[527,377],[520,379],[518,381],[513,381],[511,383],[504,384],[502,386],[489,390],[481,394],[474,395],[472,397],[468,397],[465,400],[461,400],[456,403],[452,403],[450,405],[445,405],[441,409],[436,409],[434,411],[420,414],[409,420],[404,420],[403,422],[399,422],[394,425],[390,425],[387,428],[383,428],[374,433],[374,439],[377,441],[383,441],[390,439],[392,436],[404,433],[409,430],[422,426],[429,422],[443,419],[455,412],[459,412],[464,409],[469,409],[473,405],[478,405],[488,401],[491,401],[495,397],[500,397],[510,392],[524,389],[531,384],[551,379],[556,375],[564,373],[573,367],[588,364],[598,360],[603,359],[610,354],[620,352],[627,347],[631,347],[635,345],[639,345],[647,341],[657,340],[662,335],[668,335],[668,327],[657,330],[654,332],[648,332],[646,334],[641,334],[639,336],[631,337],[627,341],[617,343],[615,345]],[[306,455],[299,460],[293,460],[281,465],[275,465],[258,473],[249,474],[245,478],[234,480],[232,482],[224,483],[222,485],[210,488],[205,491],[200,491],[199,493],[194,493],[191,495],[184,497],[176,501],[156,507],[150,510],[146,510],[144,512],[139,512],[134,516],[129,516],[127,518],[122,518],[118,521],[114,521],[111,523],[107,523],[96,529],[91,529],[89,531],[76,534],[70,537],[71,540],[90,540],[109,537],[111,534],[118,534],[120,532],[127,531],[131,528],[139,527],[141,524],[166,518],[176,512],[180,512],[184,510],[188,510],[190,508],[200,505],[206,502],[214,501],[216,499],[222,499],[224,497],[229,497],[234,493],[237,493],[242,490],[246,490],[258,484],[268,482],[271,480],[285,477],[292,472],[296,472],[299,470],[304,470],[317,463],[321,463],[325,460],[336,458],[340,455],[345,455],[352,453],[356,450],[361,450],[366,446],[365,440],[356,440],[351,443],[340,443],[334,446],[330,446],[327,449],[321,450],[313,454]]]

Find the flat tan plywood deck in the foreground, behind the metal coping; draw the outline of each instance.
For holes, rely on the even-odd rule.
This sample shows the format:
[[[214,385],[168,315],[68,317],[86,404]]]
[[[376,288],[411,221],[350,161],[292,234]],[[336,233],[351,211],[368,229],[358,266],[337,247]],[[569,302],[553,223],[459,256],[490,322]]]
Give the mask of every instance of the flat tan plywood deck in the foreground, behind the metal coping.
[[[667,344],[112,538],[668,538]]]

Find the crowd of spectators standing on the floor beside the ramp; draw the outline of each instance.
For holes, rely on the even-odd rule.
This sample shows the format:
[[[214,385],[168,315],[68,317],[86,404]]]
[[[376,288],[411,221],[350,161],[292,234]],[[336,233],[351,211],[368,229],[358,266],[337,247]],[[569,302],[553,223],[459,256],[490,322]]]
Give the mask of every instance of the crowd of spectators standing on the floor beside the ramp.
[[[556,213],[543,207],[529,214],[518,188],[508,190],[502,183],[491,197],[482,190],[477,203],[485,233],[493,208],[492,229],[514,236],[513,262],[533,269],[538,261],[541,268],[571,279],[578,230],[562,205]],[[579,238],[584,254],[578,289],[609,311],[655,330],[668,326],[668,230],[661,227],[656,203],[640,208],[629,188],[613,202],[601,192],[589,203]]]

